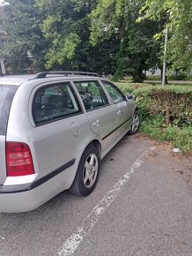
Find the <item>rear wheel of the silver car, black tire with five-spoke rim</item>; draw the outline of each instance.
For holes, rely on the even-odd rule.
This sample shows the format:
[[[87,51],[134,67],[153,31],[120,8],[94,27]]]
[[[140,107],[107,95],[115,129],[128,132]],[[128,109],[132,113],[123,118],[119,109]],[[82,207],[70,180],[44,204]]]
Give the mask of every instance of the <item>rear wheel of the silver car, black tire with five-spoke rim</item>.
[[[78,170],[69,192],[76,196],[87,196],[97,184],[100,171],[100,155],[98,150],[87,147],[78,164]]]

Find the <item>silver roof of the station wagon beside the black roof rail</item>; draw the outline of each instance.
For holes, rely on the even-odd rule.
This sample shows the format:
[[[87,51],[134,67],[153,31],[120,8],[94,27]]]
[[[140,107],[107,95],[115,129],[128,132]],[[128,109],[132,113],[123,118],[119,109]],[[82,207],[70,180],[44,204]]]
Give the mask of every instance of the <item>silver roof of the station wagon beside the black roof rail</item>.
[[[61,75],[61,74],[48,74],[44,78],[36,78],[36,74],[28,75],[8,75],[0,77],[0,85],[14,85],[20,86],[22,83],[26,82],[27,80],[40,80],[40,81],[48,81],[48,80],[55,80],[55,79],[62,79],[62,80],[69,80],[69,79],[99,79],[99,76],[89,76],[89,75]]]

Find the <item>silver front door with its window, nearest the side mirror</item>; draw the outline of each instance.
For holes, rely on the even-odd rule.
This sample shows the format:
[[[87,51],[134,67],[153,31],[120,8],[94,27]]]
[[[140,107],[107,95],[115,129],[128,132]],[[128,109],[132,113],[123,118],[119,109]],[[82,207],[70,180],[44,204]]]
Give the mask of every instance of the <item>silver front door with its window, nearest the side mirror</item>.
[[[120,132],[117,133],[117,137],[121,136],[121,132],[129,130],[132,122],[133,104],[130,101],[127,101],[125,95],[122,94],[122,91],[118,87],[115,87],[113,83],[107,80],[101,80],[101,82],[114,103],[114,108],[117,114],[115,127],[116,129],[122,127]]]

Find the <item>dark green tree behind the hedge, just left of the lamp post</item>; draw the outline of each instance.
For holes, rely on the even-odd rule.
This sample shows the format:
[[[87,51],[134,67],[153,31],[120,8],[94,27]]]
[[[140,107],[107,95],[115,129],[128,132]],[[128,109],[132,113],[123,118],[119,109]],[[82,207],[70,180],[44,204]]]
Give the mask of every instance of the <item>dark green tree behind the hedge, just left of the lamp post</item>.
[[[125,32],[116,54],[117,70],[114,78],[131,75],[133,81],[143,82],[145,71],[154,72],[160,68],[160,42],[152,38],[155,26],[148,20],[142,24],[135,23]]]

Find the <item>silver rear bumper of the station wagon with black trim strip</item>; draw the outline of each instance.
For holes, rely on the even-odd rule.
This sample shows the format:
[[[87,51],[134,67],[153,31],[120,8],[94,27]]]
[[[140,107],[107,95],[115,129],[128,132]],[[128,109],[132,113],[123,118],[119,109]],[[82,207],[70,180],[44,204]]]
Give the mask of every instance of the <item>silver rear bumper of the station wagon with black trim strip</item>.
[[[0,187],[0,212],[18,213],[31,211],[69,189],[75,176],[74,165],[54,177],[43,177],[32,184],[2,185]]]

